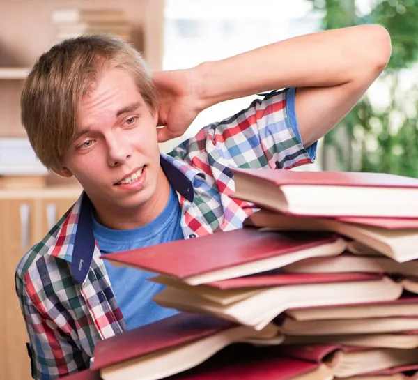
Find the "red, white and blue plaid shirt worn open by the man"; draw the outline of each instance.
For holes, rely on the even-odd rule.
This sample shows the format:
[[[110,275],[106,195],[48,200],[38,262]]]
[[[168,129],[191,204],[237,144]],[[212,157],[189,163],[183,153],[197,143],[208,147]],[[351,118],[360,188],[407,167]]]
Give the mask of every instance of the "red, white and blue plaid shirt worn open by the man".
[[[295,135],[289,116],[294,91],[286,106],[289,92],[264,94],[248,109],[161,154],[162,169],[178,194],[185,238],[240,228],[252,212],[230,197],[230,167],[290,169],[312,162]],[[36,379],[88,367],[97,340],[127,329],[93,238],[91,208],[83,193],[17,266],[16,290]]]

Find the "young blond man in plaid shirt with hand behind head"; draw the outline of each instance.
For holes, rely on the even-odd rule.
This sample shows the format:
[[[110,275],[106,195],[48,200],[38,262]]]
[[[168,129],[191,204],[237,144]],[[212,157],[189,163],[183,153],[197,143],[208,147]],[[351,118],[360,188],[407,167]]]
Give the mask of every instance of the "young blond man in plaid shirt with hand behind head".
[[[242,227],[249,211],[230,197],[229,167],[314,160],[316,141],[390,53],[385,29],[369,25],[153,79],[136,51],[111,38],[68,40],[40,56],[24,85],[22,123],[40,160],[74,175],[84,192],[17,267],[36,379],[82,370],[97,340],[176,312],[151,301],[161,287],[148,273],[116,268],[100,254]],[[284,88],[160,153],[158,142],[182,135],[206,107]]]

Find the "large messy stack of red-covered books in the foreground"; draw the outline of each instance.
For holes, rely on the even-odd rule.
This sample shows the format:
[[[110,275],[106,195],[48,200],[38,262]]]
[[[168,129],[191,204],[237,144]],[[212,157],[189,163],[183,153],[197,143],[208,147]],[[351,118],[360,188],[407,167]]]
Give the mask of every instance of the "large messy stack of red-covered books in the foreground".
[[[79,376],[417,379],[418,180],[233,172],[243,229],[103,256],[180,314],[98,342]]]

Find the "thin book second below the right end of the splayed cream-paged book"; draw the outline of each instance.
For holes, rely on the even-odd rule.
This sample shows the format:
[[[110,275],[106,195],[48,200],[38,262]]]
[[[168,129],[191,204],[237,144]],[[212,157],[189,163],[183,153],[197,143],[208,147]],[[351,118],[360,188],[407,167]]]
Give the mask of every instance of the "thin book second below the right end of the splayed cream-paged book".
[[[284,335],[380,334],[398,333],[408,330],[418,330],[418,317],[296,321],[286,316],[280,321],[280,331]]]

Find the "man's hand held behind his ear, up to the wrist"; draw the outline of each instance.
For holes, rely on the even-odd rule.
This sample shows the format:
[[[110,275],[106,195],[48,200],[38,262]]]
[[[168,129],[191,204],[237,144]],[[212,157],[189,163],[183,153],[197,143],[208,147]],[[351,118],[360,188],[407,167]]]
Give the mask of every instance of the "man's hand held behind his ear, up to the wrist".
[[[199,78],[194,69],[158,71],[153,75],[157,87],[160,105],[158,109],[158,141],[165,142],[179,137],[202,108],[199,105]]]

